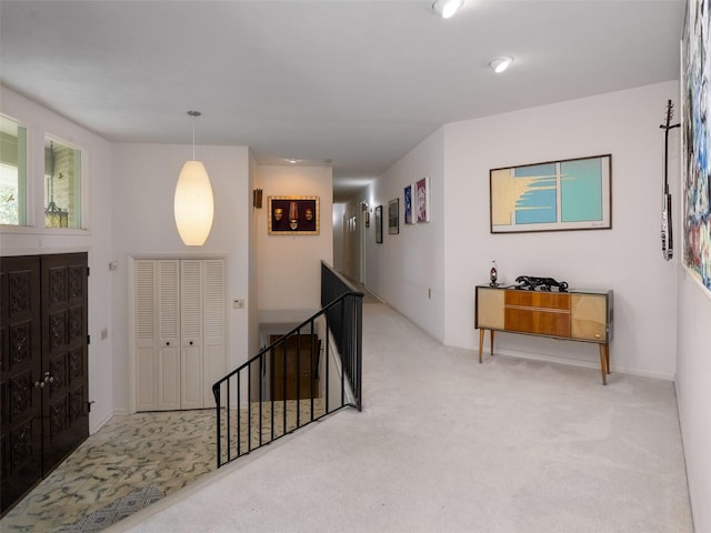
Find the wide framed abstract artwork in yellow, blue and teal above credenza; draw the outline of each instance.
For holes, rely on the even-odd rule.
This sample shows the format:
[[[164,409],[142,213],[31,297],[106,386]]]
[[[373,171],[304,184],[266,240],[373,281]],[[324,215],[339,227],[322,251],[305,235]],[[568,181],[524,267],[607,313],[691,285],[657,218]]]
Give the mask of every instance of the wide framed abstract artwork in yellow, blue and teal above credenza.
[[[491,233],[609,230],[612,155],[489,171]]]

